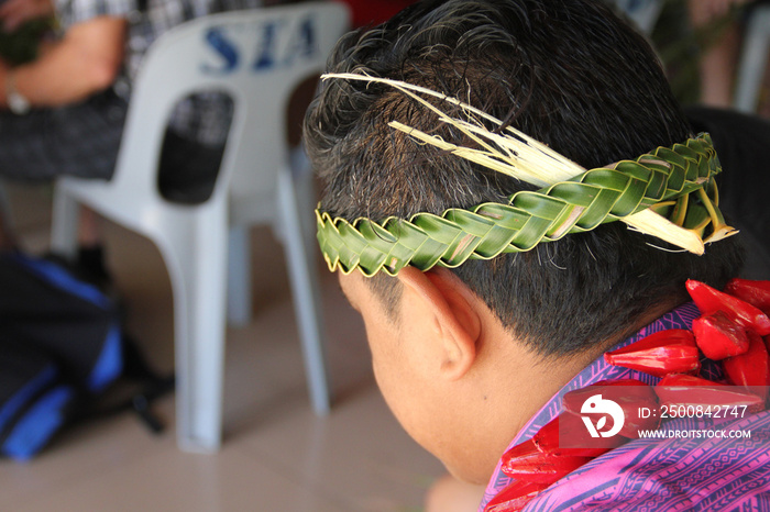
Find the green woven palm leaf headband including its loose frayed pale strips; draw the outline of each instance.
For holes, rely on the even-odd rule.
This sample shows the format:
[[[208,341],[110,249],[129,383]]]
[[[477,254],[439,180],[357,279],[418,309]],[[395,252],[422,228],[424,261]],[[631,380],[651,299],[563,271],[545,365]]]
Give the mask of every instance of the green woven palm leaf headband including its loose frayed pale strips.
[[[455,146],[392,121],[395,130],[542,187],[516,192],[506,203],[452,208],[441,215],[391,216],[380,222],[366,218],[350,222],[318,209],[318,242],[332,271],[350,274],[358,268],[371,277],[380,270],[394,276],[407,265],[420,270],[435,265],[457,267],[469,258],[491,259],[502,253],[529,251],[541,242],[617,220],[695,254],[703,254],[705,243],[737,232],[725,224],[717,208],[714,176],[722,167],[707,133],[658,147],[634,160],[586,170],[510,126],[502,133],[490,132],[479,119],[498,126],[501,121],[430,89],[361,74],[323,76],[329,78],[395,87],[433,111],[441,122],[461,130],[480,148]],[[450,118],[418,93],[461,107],[466,120]]]

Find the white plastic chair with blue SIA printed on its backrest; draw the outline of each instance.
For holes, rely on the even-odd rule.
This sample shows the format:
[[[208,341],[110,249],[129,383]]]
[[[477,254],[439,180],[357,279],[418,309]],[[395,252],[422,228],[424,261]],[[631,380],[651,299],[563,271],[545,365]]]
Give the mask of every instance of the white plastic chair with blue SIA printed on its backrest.
[[[66,177],[56,183],[53,249],[74,254],[82,203],[147,236],[164,258],[174,297],[183,449],[210,452],[221,443],[230,226],[233,240],[242,242],[244,226],[267,222],[284,242],[311,402],[319,414],[329,411],[315,247],[302,236],[304,224],[315,219],[306,200],[298,200],[311,176],[293,172],[285,114],[293,89],[322,70],[348,26],[343,4],[308,2],[215,14],[174,29],[145,57],[113,178]],[[166,120],[178,100],[200,90],[233,99],[224,156],[209,200],[172,203],[156,187]],[[248,247],[242,244],[241,251]],[[246,260],[240,258],[242,265]]]

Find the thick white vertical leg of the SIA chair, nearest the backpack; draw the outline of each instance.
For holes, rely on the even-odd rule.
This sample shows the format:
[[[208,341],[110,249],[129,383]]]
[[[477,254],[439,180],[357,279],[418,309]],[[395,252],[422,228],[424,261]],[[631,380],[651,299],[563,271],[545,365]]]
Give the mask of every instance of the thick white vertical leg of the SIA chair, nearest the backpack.
[[[221,445],[228,241],[223,213],[201,218],[177,231],[191,240],[157,242],[174,292],[177,442],[209,453]]]

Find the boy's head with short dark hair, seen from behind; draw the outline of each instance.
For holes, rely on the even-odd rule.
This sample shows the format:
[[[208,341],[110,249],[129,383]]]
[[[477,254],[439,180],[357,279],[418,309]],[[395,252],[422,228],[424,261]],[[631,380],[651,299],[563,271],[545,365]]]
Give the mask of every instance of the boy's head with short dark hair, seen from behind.
[[[692,135],[653,52],[598,1],[419,2],[383,25],[344,36],[328,70],[366,73],[458,98],[585,168],[635,158]],[[448,104],[441,108],[451,110]],[[305,126],[308,153],[326,186],[322,210],[349,221],[408,219],[418,212],[441,214],[448,208],[506,202],[518,190],[535,189],[418,143],[391,127],[393,120],[469,144],[459,131],[389,86],[327,80]],[[740,263],[734,240],[710,245],[704,256],[650,244],[664,245],[613,222],[529,252],[469,259],[452,270],[422,274],[406,268],[397,277],[381,272],[369,279],[353,272],[341,280],[366,321],[377,379],[388,388],[383,389],[386,399],[407,430],[446,463],[451,457],[450,467],[454,464],[457,469],[472,454],[442,457],[458,439],[427,432],[452,426],[450,413],[442,412],[447,408],[457,412],[457,407],[468,405],[479,415],[485,410],[468,404],[472,392],[464,396],[466,389],[451,393],[462,397],[460,403],[442,404],[436,403],[439,394],[415,388],[429,386],[420,368],[430,367],[436,356],[425,353],[431,340],[422,344],[420,336],[449,333],[475,344],[473,360],[453,367],[457,358],[444,354],[444,363],[438,365],[454,370],[457,382],[476,371],[474,364],[490,363],[486,358],[498,348],[491,341],[494,333],[516,348],[493,363],[504,368],[501,358],[517,358],[506,363],[516,374],[510,382],[526,374],[527,382],[535,383],[538,376],[579,370],[586,357],[638,329],[641,320],[651,320],[651,312],[681,302],[685,279],[722,286]],[[420,300],[430,303],[427,310],[420,309]],[[395,342],[378,352],[385,346],[378,340],[388,336]],[[527,368],[516,366],[524,360],[529,361]],[[417,368],[411,374],[409,365]],[[477,393],[495,393],[495,379],[477,374]],[[481,389],[484,386],[490,388]],[[529,411],[536,407],[530,399],[537,402],[538,392],[515,398],[512,408],[520,402]],[[409,400],[415,401],[411,409],[402,405]],[[428,412],[415,412],[418,402],[430,410],[433,422],[422,418]],[[482,437],[479,432],[493,426],[485,418],[476,420],[479,427],[471,435]]]

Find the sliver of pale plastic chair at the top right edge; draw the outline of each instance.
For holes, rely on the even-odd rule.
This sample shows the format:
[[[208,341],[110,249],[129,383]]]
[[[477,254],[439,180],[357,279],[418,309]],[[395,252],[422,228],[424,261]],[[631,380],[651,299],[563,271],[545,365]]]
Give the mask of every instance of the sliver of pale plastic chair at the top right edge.
[[[770,57],[770,4],[752,5],[744,31],[735,85],[736,110],[756,113],[762,77]]]

